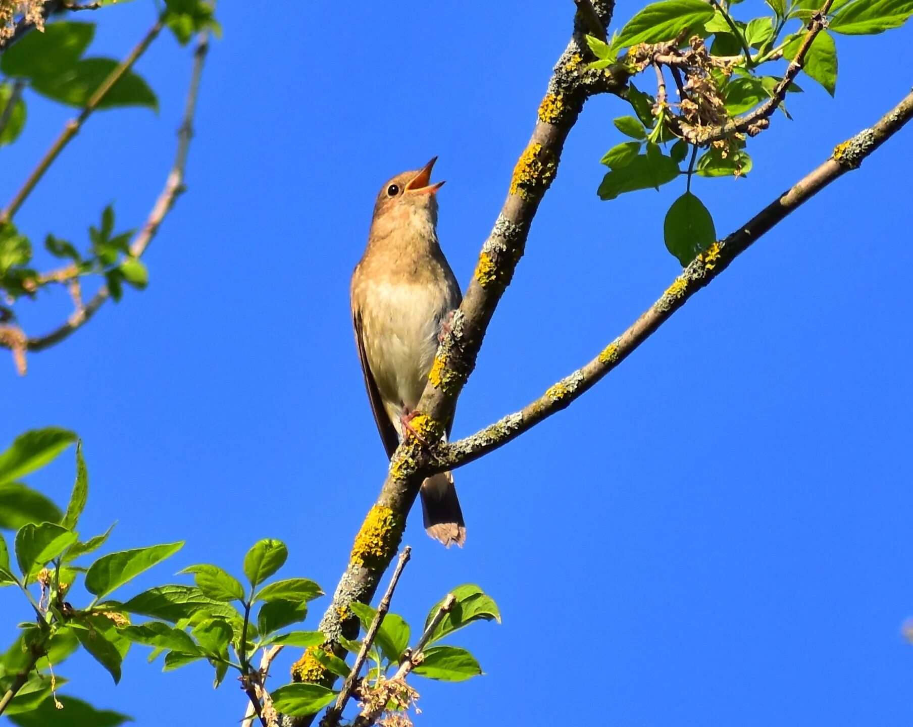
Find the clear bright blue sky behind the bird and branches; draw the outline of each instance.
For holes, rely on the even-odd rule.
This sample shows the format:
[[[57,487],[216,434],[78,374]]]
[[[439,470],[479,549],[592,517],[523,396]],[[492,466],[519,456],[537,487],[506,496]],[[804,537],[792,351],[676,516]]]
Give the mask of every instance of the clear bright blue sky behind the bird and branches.
[[[622,0],[624,21],[644,3]],[[743,7],[759,8],[746,3]],[[567,40],[566,2],[223,3],[182,197],[128,291],[68,342],[3,363],[0,442],[31,427],[84,438],[81,531],[115,549],[185,539],[140,579],[215,562],[258,538],[283,573],[332,591],[383,480],[348,286],[383,181],[438,154],[440,237],[464,284]],[[103,14],[92,51],[124,55],[153,5]],[[743,17],[750,18],[746,14]],[[620,26],[620,23],[615,24]],[[748,179],[698,179],[720,235],[876,121],[910,86],[913,29],[838,37],[834,100],[809,79],[752,143]],[[190,48],[163,37],[139,65],[162,111],[93,117],[17,216],[84,241],[114,202],[138,227],[171,164]],[[642,84],[649,85],[649,84]],[[8,198],[68,111],[29,98],[0,152]],[[662,242],[682,184],[601,202],[600,156],[623,141],[615,98],[587,104],[460,400],[456,436],[523,406],[589,360],[666,288]],[[463,550],[430,541],[394,610],[421,622],[474,582],[503,624],[455,637],[486,676],[423,681],[422,724],[908,725],[913,648],[909,372],[913,129],[790,217],[569,410],[456,474]],[[26,311],[30,332],[65,298]],[[31,479],[65,501],[72,452]],[[327,599],[313,603],[316,627]],[[0,594],[5,633],[27,616]],[[121,685],[86,658],[69,693],[133,715],[233,724],[236,683],[160,674],[145,649]],[[283,680],[289,659],[275,673]],[[578,705],[583,705],[578,711]],[[496,715],[492,717],[492,715]]]

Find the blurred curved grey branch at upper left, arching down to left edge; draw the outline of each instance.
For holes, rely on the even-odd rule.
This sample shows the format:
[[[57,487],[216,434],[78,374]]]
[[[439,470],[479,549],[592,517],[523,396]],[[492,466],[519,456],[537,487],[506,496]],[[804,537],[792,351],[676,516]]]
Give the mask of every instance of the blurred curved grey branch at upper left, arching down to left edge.
[[[177,149],[174,153],[174,162],[162,192],[152,206],[149,216],[146,218],[142,229],[133,237],[130,244],[131,256],[134,258],[142,257],[152,242],[152,238],[162,226],[165,216],[171,211],[175,200],[184,192],[184,169],[187,165],[187,153],[190,149],[190,142],[194,137],[194,114],[196,112],[196,100],[199,96],[200,79],[203,75],[206,54],[209,51],[209,34],[208,31],[200,33],[194,50],[194,64],[191,70],[190,86],[187,90],[187,97],[184,103],[184,117],[181,126],[177,132]],[[135,51],[134,51],[135,52]],[[68,321],[62,323],[58,328],[45,335],[25,338],[16,338],[12,335],[4,336],[3,329],[0,327],[0,346],[11,348],[16,352],[16,348],[10,345],[10,342],[21,342],[19,355],[24,355],[25,351],[42,351],[55,343],[59,343],[68,338],[85,325],[89,319],[100,309],[106,300],[110,298],[108,286],[102,285],[95,295],[84,306],[77,306],[76,311],[70,315]],[[16,329],[19,331],[19,329]],[[21,333],[21,331],[19,331]]]

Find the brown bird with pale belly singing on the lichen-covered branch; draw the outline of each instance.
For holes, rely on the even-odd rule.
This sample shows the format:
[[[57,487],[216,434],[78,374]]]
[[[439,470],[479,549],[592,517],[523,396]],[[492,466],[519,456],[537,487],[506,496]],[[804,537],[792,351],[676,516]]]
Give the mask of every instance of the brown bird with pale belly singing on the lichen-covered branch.
[[[460,304],[459,286],[437,242],[437,190],[431,169],[397,174],[374,204],[368,247],[352,273],[352,321],[364,385],[387,457],[403,437],[425,391],[438,336]],[[449,435],[452,422],[447,422]],[[466,541],[454,479],[422,483],[425,529],[449,547]]]

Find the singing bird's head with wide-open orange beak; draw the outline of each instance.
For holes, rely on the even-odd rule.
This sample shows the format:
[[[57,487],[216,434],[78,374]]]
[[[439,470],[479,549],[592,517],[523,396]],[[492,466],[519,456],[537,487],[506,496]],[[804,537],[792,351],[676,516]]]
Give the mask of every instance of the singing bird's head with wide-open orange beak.
[[[400,227],[437,224],[437,190],[444,183],[431,184],[431,170],[437,157],[421,169],[397,174],[383,185],[374,203],[373,231],[384,235]]]

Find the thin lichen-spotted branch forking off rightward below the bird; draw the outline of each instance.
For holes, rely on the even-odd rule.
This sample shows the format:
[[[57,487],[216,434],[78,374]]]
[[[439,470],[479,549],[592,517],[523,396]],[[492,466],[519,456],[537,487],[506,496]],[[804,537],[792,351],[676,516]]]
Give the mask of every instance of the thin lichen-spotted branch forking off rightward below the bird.
[[[593,360],[524,406],[519,412],[504,416],[471,437],[442,446],[436,452],[436,470],[456,469],[488,452],[503,447],[543,419],[561,411],[605,374],[624,361],[641,343],[681,308],[698,290],[729,267],[742,251],[787,215],[859,164],[887,141],[913,117],[913,92],[870,129],[864,129],[852,139],[839,144],[831,157],[792,188],[767,205],[748,223],[729,237],[712,245],[698,255],[670,285],[663,295],[645,311],[624,333],[609,343]]]

